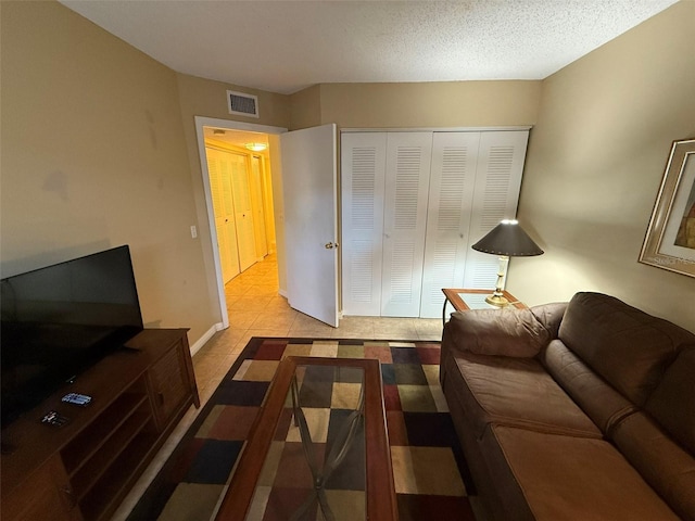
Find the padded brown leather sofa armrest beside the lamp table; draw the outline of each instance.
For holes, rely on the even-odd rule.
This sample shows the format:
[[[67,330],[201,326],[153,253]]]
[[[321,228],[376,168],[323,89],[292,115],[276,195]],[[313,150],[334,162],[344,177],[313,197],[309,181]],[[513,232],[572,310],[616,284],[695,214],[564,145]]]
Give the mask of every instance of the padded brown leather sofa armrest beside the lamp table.
[[[553,332],[539,320],[539,316],[545,317],[542,307],[536,306],[533,310],[507,308],[452,313],[451,320],[444,326],[442,351],[533,357],[554,338]]]

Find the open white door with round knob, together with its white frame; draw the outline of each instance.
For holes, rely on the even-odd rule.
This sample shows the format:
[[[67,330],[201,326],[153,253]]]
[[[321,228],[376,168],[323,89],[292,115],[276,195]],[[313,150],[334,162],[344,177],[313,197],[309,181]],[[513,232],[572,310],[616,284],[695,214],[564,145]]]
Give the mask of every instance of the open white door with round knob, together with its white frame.
[[[222,258],[208,177],[205,127],[211,127],[213,130],[217,128],[267,135],[273,179],[279,294],[288,298],[292,308],[337,327],[339,312],[336,125],[327,124],[288,132],[280,127],[202,116],[195,116],[194,119],[210,230],[210,238],[205,237],[203,252],[206,255],[212,253],[222,319],[215,328],[217,330],[228,328],[229,319],[226,313]],[[283,183],[283,179],[289,181]],[[308,190],[300,190],[298,194],[295,190],[298,187],[308,187]],[[236,208],[235,212],[237,212]],[[236,229],[238,230],[238,227]],[[290,234],[292,240],[286,240],[286,236],[290,237]],[[311,249],[304,247],[303,242],[311,242]],[[313,262],[303,262],[305,258],[311,258]],[[210,262],[211,258],[207,257],[207,260]],[[291,277],[289,277],[290,272]],[[302,283],[302,281],[307,282]]]

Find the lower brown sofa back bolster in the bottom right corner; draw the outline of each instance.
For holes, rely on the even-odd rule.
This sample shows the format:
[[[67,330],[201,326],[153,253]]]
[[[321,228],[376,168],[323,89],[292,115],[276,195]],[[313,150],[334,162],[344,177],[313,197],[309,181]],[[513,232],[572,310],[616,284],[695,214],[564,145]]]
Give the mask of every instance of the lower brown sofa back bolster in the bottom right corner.
[[[695,519],[695,458],[691,454],[644,412],[624,418],[611,439],[675,512],[683,519]]]

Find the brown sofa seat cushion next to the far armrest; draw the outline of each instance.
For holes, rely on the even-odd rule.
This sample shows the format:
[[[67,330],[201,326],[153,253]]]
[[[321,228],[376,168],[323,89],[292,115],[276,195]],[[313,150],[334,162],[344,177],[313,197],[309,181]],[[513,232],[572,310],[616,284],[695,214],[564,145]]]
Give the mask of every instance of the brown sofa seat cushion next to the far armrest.
[[[444,364],[451,364],[447,384],[478,436],[491,422],[576,436],[602,435],[534,358],[460,353]]]

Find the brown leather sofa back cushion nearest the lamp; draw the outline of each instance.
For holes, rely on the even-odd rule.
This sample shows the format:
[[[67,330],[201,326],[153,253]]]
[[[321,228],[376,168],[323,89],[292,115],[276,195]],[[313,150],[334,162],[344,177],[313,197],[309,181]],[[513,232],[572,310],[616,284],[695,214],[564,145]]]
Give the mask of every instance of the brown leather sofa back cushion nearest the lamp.
[[[559,339],[639,406],[659,382],[678,350],[695,335],[612,296],[577,293],[565,312]]]

